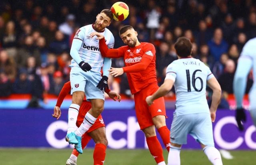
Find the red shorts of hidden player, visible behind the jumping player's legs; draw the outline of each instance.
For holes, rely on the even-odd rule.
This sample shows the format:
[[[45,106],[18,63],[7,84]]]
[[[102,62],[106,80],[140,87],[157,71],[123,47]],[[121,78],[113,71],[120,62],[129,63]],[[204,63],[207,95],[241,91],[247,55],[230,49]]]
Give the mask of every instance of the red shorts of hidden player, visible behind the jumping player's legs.
[[[77,116],[77,120],[76,120],[76,126],[80,127],[80,125],[82,124],[82,122],[84,121],[84,116],[85,114],[92,108],[92,104],[91,102],[88,101],[83,101],[82,105],[79,108],[79,113]],[[98,116],[97,120],[95,121],[95,123],[91,126],[91,128],[89,128],[89,130],[86,133],[92,132],[100,127],[105,127],[104,121],[102,119],[102,116],[100,114],[100,116]]]

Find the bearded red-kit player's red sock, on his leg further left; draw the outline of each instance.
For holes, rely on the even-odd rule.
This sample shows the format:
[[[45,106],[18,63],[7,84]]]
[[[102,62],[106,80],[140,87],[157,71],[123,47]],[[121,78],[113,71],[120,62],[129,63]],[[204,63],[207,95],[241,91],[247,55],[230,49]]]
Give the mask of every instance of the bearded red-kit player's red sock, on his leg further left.
[[[151,155],[154,157],[156,164],[164,161],[163,149],[156,136],[146,138],[146,141],[148,144],[148,149]]]

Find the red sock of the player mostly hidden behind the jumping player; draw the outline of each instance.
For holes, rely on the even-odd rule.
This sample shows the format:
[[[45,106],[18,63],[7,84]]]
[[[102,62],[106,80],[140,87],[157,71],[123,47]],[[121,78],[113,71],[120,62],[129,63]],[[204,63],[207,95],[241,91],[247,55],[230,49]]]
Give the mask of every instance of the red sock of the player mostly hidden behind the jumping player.
[[[107,146],[101,143],[95,145],[93,152],[93,165],[103,165],[106,157]]]

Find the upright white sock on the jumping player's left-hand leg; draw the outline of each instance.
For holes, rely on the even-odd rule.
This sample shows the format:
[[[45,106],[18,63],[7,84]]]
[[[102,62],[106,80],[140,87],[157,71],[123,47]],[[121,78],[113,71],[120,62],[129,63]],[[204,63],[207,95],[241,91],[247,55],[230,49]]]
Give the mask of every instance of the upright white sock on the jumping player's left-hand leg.
[[[76,130],[76,120],[80,106],[71,104],[68,108],[68,134]]]

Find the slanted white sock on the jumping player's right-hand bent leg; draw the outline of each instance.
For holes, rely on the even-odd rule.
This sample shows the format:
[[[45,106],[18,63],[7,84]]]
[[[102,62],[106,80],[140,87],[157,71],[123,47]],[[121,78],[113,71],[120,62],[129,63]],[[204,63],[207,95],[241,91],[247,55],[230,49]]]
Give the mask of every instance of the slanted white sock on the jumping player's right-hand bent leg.
[[[84,117],[84,122],[81,124],[81,126],[76,130],[75,134],[76,136],[82,137],[86,131],[89,130],[89,128],[94,124],[97,118],[94,118],[89,112],[86,113]]]

